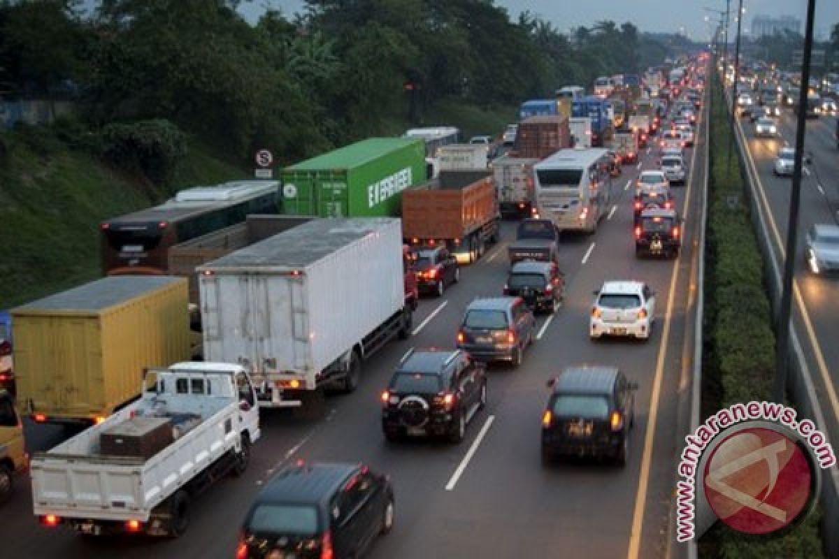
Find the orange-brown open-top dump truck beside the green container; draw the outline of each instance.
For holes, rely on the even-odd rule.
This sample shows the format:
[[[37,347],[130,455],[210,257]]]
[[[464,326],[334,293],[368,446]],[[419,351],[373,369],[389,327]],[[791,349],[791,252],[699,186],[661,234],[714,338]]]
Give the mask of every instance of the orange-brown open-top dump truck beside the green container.
[[[443,171],[405,190],[402,228],[410,246],[445,245],[461,262],[473,262],[498,242],[498,197],[492,172]]]

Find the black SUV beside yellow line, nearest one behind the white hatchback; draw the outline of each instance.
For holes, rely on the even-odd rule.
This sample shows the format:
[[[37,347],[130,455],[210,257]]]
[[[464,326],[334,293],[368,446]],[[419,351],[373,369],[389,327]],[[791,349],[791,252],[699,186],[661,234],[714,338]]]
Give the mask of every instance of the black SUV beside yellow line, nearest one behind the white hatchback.
[[[542,415],[542,461],[612,458],[626,465],[638,385],[615,367],[571,367],[555,379]]]

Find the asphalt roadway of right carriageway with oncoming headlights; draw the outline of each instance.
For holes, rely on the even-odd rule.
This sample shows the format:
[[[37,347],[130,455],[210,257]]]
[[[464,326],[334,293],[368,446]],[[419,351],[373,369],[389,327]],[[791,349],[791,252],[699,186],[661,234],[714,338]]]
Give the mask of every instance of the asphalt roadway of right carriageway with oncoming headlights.
[[[753,125],[741,122],[748,139],[747,164],[758,177],[758,202],[767,215],[769,239],[784,261],[784,247],[789,228],[789,195],[792,179],[773,173],[774,155],[778,148],[795,144],[796,116],[784,109],[779,121],[780,137],[756,138]],[[839,437],[839,345],[836,340],[836,318],[839,317],[839,282],[835,278],[810,272],[805,262],[805,235],[814,223],[839,223],[839,153],[836,150],[836,117],[822,116],[806,122],[805,153],[812,163],[805,164],[801,182],[798,243],[795,251],[795,292],[793,316],[808,368],[816,383],[830,440]]]

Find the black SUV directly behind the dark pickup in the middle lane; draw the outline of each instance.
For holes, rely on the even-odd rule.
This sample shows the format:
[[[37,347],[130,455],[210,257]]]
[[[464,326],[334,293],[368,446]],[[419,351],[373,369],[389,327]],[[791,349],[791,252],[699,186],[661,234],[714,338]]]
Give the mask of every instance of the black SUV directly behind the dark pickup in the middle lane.
[[[517,262],[504,284],[504,295],[524,299],[534,312],[553,313],[565,292],[565,277],[555,262]]]

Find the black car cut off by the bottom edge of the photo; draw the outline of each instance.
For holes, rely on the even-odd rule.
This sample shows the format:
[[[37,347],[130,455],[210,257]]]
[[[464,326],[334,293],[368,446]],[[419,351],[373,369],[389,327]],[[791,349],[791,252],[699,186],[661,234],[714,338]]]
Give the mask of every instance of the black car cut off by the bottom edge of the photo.
[[[302,463],[268,480],[242,523],[237,559],[362,556],[393,528],[390,480],[360,464]]]

